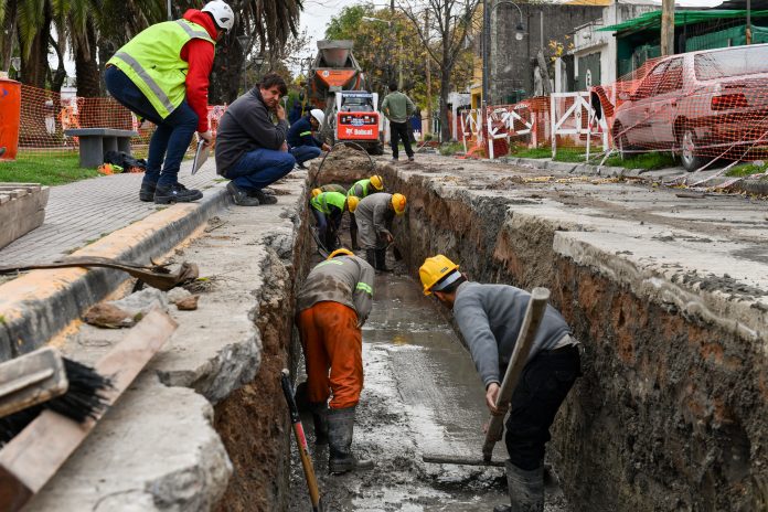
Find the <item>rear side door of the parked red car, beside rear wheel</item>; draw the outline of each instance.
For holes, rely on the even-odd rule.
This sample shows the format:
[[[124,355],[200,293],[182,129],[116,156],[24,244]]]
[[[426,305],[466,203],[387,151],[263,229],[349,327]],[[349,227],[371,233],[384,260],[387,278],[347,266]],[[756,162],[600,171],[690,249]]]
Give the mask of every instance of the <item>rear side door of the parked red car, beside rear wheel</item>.
[[[674,119],[683,94],[683,64],[682,56],[670,58],[653,94],[649,120],[657,149],[671,149],[675,145]]]

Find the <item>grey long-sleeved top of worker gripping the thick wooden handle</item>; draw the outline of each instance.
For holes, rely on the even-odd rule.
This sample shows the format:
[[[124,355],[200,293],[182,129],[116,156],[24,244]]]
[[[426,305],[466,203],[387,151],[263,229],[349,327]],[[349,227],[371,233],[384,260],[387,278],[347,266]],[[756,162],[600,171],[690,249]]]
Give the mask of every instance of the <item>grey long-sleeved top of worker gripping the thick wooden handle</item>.
[[[493,382],[501,384],[530,299],[527,291],[508,285],[467,281],[457,288],[454,318],[486,387]],[[543,350],[554,349],[565,334],[570,334],[570,328],[547,305],[529,361]]]

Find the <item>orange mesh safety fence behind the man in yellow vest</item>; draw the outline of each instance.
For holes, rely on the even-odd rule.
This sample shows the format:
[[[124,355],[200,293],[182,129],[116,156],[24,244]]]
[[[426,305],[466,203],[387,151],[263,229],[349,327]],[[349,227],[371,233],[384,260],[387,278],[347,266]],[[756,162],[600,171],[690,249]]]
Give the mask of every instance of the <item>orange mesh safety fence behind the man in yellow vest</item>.
[[[215,134],[226,106],[209,106],[209,121]],[[134,113],[109,97],[83,98],[62,96],[29,85],[21,86],[19,154],[76,153],[77,137],[65,130],[73,128],[113,128],[138,131],[131,139],[131,152],[146,157],[154,125],[141,124]],[[194,146],[194,140],[191,145]]]

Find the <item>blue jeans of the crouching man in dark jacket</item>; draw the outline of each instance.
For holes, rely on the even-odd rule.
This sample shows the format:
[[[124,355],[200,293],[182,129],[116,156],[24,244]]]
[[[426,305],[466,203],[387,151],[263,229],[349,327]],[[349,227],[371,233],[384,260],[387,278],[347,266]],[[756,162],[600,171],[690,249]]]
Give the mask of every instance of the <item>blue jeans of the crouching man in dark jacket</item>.
[[[226,171],[226,178],[246,191],[262,190],[288,174],[294,166],[296,159],[289,152],[259,148],[243,154]]]

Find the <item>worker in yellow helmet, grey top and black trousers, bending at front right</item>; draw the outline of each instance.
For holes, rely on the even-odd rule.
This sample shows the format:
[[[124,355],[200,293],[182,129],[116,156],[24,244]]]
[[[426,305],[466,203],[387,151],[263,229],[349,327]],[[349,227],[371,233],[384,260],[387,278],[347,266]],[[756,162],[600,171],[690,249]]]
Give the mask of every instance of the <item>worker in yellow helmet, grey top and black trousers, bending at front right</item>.
[[[508,285],[468,281],[459,266],[441,254],[427,258],[418,273],[424,294],[434,294],[452,310],[486,386],[486,405],[493,415],[505,414],[495,402],[531,294]],[[550,427],[580,374],[578,342],[561,313],[547,306],[506,420],[511,506],[499,505],[494,512],[544,510],[544,448]]]

